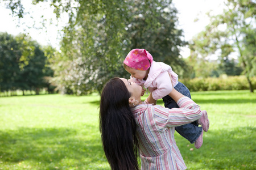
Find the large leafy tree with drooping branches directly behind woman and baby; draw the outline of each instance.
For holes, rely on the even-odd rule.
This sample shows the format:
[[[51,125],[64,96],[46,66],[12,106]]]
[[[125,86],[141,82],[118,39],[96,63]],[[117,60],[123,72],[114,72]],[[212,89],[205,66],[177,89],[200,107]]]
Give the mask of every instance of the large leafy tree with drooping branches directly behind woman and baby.
[[[33,1],[39,2],[46,1]],[[187,67],[179,48],[186,42],[175,28],[177,11],[170,5],[169,0],[52,1],[57,18],[63,13],[69,16],[62,30],[61,58],[53,66],[53,83],[67,94],[101,92],[108,79],[129,76],[122,62],[133,48],[147,49],[156,61],[166,62],[182,76]]]

